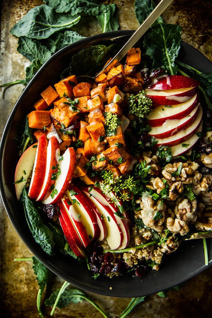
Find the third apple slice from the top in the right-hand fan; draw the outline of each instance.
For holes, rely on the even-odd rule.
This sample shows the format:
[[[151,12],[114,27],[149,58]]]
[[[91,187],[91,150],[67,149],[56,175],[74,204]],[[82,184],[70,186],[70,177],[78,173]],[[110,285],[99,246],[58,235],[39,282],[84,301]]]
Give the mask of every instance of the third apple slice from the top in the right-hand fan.
[[[151,110],[149,116],[149,125],[151,127],[161,126],[168,119],[182,119],[192,112],[192,110],[198,105],[199,97],[197,94],[185,103],[166,107],[164,105],[158,106]]]

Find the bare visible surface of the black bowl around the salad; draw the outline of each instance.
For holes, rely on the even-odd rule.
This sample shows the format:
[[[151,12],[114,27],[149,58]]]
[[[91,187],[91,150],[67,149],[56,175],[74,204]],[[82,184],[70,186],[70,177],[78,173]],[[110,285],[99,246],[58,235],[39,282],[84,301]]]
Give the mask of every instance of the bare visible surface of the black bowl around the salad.
[[[73,54],[95,44],[123,44],[131,33],[132,31],[115,31],[95,35],[68,45],[54,54],[40,68],[18,99],[4,129],[0,148],[2,200],[13,226],[27,247],[52,272],[76,287],[96,294],[115,297],[138,297],[153,294],[174,287],[201,273],[207,268],[202,240],[185,241],[176,252],[164,256],[161,269],[158,272],[151,271],[144,278],[133,277],[133,274],[129,273],[113,277],[113,279],[99,277],[94,280],[91,278],[92,273],[87,270],[85,263],[79,263],[63,254],[47,255],[33,239],[24,216],[23,206],[16,199],[13,180],[18,151],[13,139],[20,132],[24,116],[32,110],[32,105],[38,100],[40,93],[48,85],[53,86],[60,80],[60,74],[70,64]],[[182,43],[178,59],[202,72],[212,72],[210,61],[186,43]],[[211,265],[212,239],[207,239],[207,245],[209,264]]]

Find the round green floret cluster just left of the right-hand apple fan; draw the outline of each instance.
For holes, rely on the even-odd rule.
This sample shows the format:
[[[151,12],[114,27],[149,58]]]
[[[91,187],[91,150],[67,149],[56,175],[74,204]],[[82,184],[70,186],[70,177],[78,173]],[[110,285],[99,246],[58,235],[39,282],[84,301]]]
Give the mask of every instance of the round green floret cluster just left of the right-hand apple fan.
[[[150,113],[152,100],[147,96],[144,90],[137,95],[130,94],[128,97],[129,114],[134,114],[139,118],[144,118]]]

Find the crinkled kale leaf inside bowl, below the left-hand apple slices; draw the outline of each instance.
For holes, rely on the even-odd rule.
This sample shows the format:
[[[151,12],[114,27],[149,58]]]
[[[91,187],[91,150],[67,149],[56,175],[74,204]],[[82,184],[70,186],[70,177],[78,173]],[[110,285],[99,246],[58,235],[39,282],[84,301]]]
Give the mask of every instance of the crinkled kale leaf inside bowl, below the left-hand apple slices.
[[[35,239],[36,243],[42,247],[44,252],[51,255],[55,246],[53,241],[53,233],[50,228],[44,224],[38,213],[38,210],[35,208],[33,202],[29,199],[25,187],[20,201],[24,205],[25,217],[33,238]]]

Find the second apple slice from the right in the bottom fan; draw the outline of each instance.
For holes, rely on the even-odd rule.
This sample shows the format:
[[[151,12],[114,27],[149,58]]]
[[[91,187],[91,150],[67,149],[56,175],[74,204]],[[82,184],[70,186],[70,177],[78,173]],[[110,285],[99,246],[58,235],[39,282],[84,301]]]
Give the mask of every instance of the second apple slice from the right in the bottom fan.
[[[102,202],[102,196],[95,190],[91,190],[87,187],[82,188],[83,192],[86,196],[90,197],[92,202],[97,206],[100,213],[103,215],[107,226],[107,236],[106,240],[108,245],[112,250],[116,250],[120,247],[123,241],[123,233],[121,231],[120,225],[117,224],[117,220],[115,218],[115,214],[111,210],[109,204],[107,202]]]

